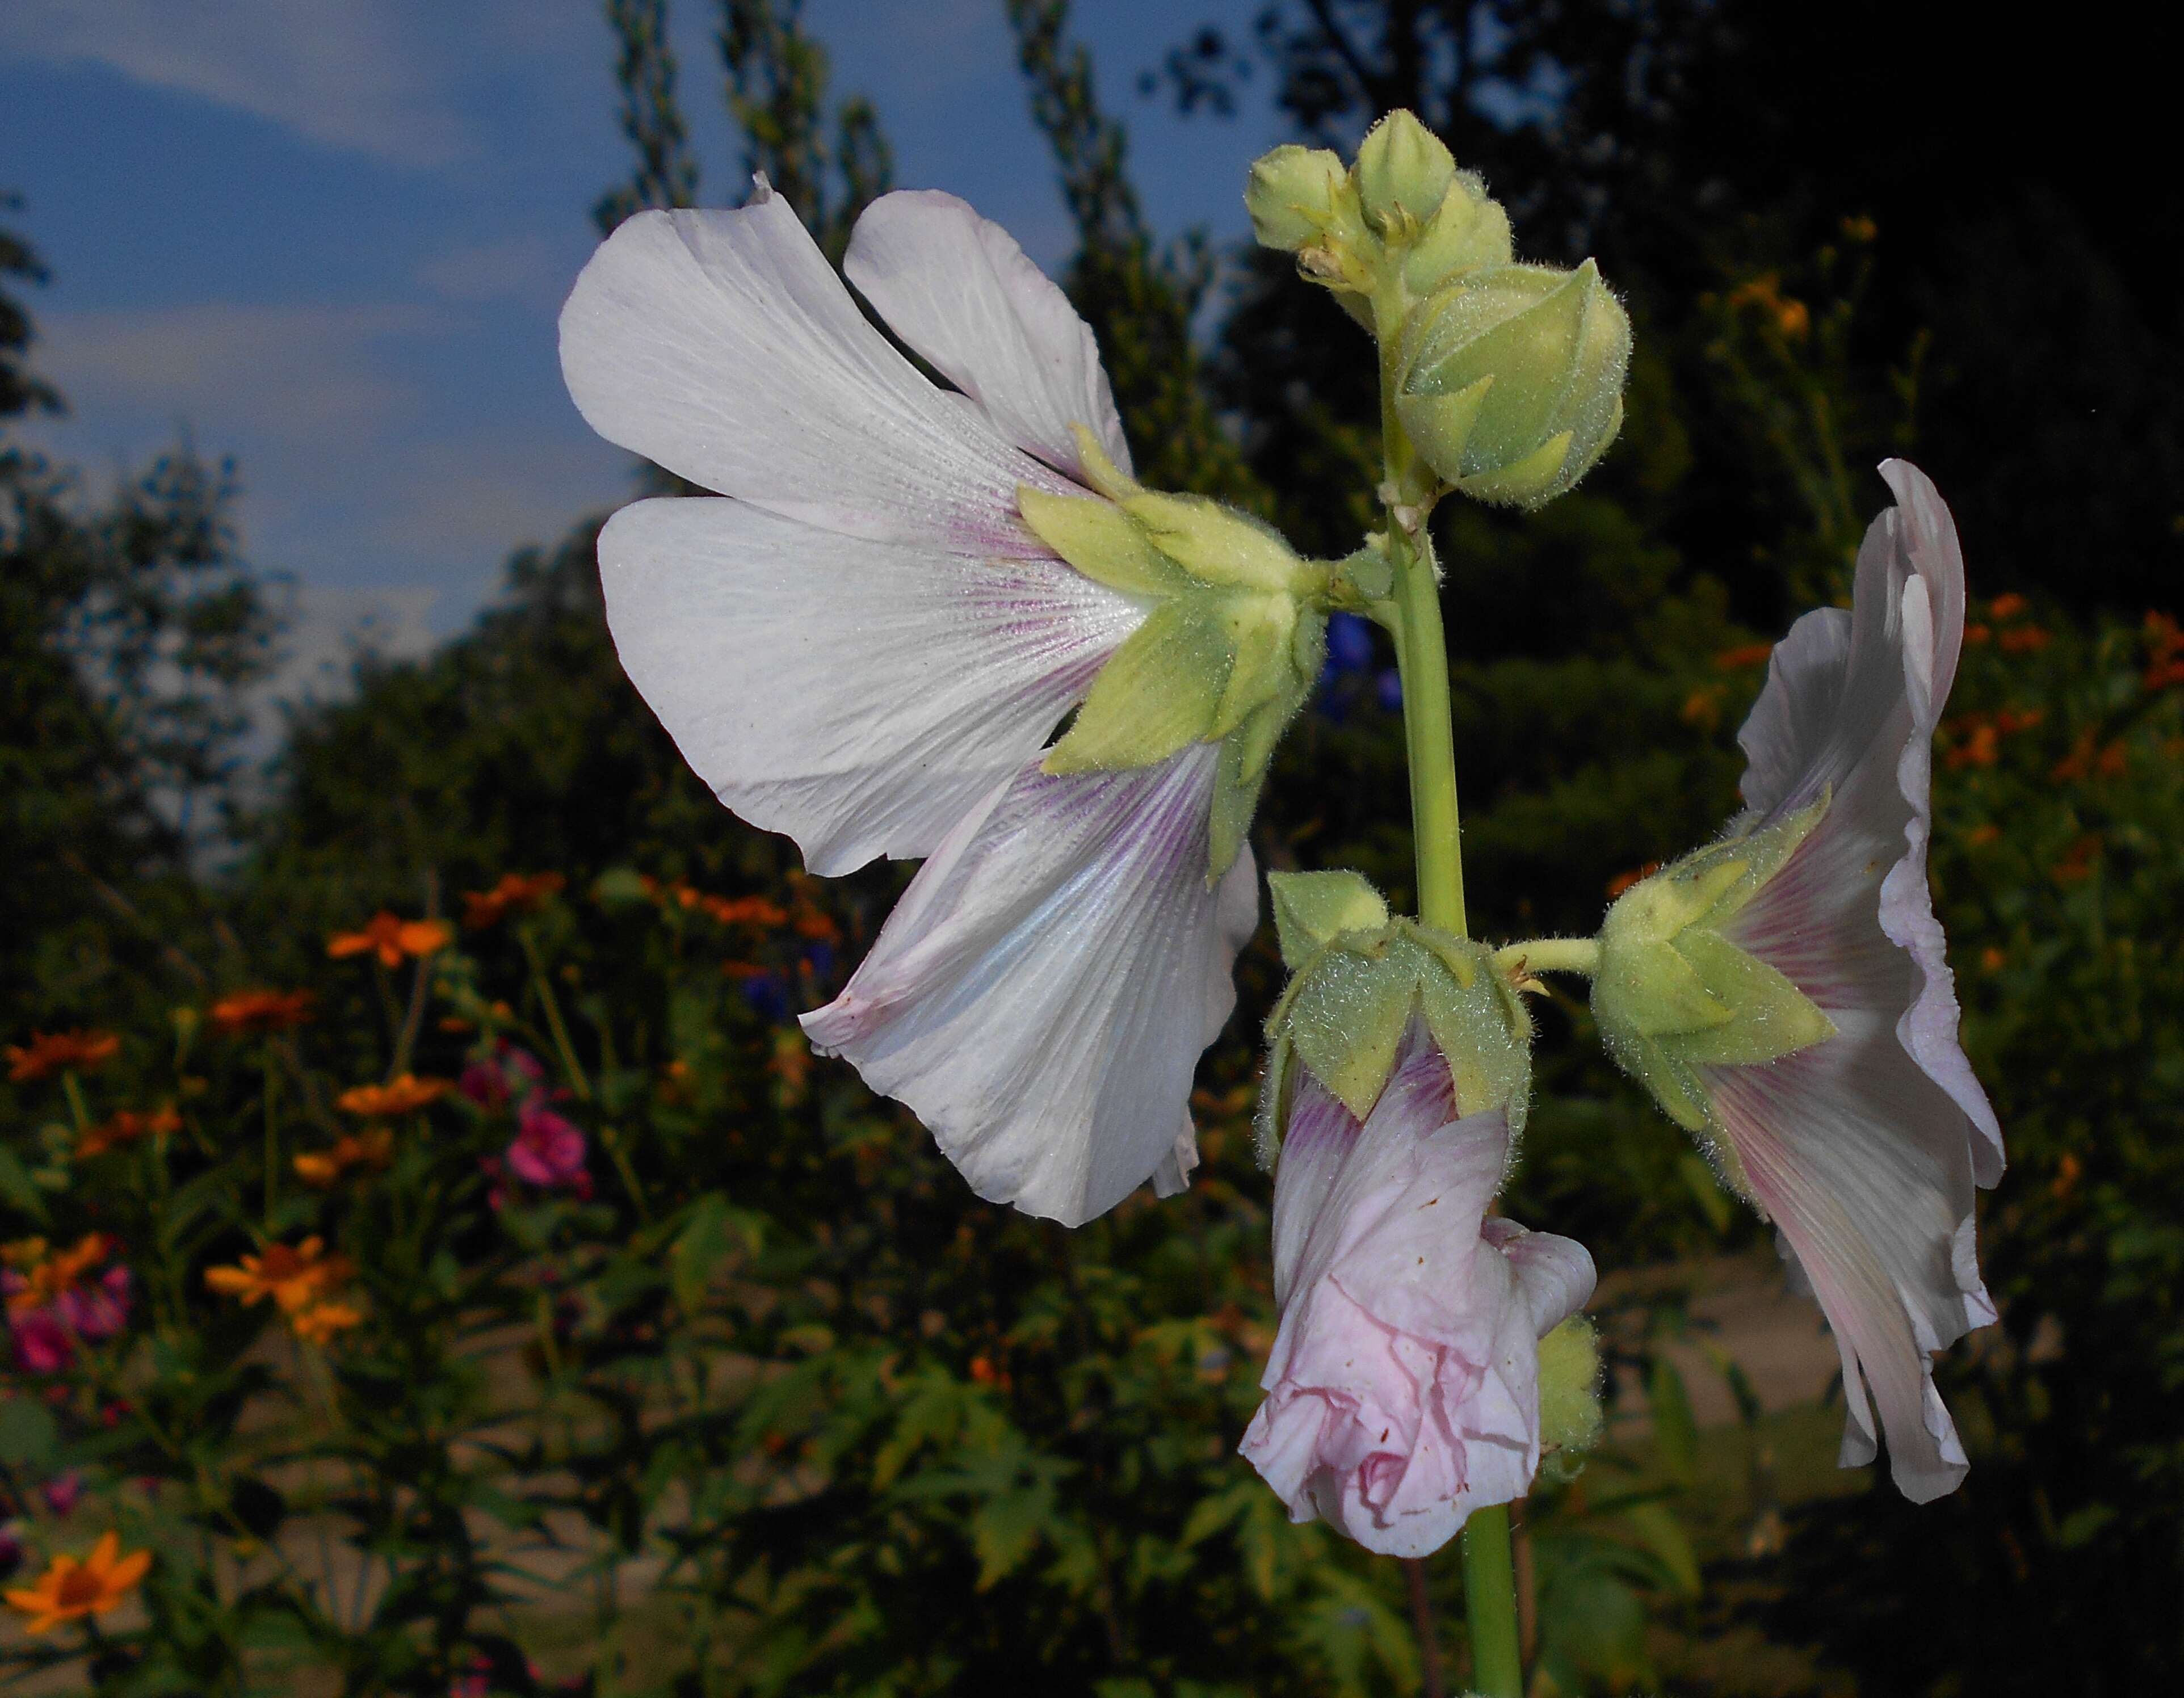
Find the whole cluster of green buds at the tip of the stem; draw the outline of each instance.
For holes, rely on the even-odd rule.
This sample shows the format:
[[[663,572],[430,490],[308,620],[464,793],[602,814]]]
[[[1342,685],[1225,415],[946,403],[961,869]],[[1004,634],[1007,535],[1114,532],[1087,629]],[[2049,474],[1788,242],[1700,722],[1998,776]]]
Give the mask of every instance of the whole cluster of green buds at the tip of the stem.
[[[1245,203],[1258,240],[1393,354],[1398,419],[1444,487],[1540,506],[1614,441],[1623,306],[1590,260],[1516,264],[1509,214],[1409,111],[1374,124],[1348,170],[1326,148],[1275,148]]]

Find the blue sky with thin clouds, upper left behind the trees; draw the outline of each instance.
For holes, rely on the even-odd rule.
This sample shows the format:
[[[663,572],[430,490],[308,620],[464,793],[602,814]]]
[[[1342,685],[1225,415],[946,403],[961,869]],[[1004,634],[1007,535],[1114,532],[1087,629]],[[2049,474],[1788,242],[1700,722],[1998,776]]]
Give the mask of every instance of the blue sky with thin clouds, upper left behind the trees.
[[[1247,234],[1278,137],[1265,72],[1234,120],[1138,74],[1260,0],[1079,0],[1155,227]],[[701,199],[743,196],[710,0],[675,4]],[[808,0],[836,92],[878,103],[898,179],[1002,220],[1040,264],[1070,231],[1000,0]],[[371,611],[395,648],[459,629],[500,563],[629,491],[561,391],[553,323],[627,170],[596,0],[7,0],[0,188],[52,271],[37,426],[92,487],[188,430],[234,454],[253,561],[314,637]]]

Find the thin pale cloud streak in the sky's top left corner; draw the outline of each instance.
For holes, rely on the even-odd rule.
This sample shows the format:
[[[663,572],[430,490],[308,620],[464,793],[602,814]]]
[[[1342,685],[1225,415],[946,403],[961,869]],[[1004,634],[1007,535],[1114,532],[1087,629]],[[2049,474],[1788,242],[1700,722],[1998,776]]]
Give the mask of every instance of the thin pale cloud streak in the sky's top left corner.
[[[7,0],[0,57],[107,65],[397,166],[448,166],[476,153],[448,87],[441,9],[387,0]]]

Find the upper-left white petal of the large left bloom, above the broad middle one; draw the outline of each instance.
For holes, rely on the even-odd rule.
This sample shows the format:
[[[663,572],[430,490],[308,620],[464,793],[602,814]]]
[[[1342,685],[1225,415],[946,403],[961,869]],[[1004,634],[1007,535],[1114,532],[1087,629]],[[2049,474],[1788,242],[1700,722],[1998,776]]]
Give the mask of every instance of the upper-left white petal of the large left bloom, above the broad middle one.
[[[1016,487],[1075,487],[865,321],[795,212],[640,212],[561,308],[561,373],[607,441],[791,519],[1044,554]]]

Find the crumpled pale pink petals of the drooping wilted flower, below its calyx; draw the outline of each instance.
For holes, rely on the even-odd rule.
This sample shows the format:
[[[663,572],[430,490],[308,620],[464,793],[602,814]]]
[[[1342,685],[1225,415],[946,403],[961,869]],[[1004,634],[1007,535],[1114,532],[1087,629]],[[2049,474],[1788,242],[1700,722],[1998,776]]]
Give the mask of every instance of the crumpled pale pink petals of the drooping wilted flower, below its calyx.
[[[1420,1021],[1363,1126],[1299,1069],[1273,1194],[1282,1325],[1243,1440],[1293,1521],[1424,1556],[1529,1491],[1540,1340],[1592,1294],[1592,1257],[1487,1218],[1507,1159],[1507,1115],[1457,1117]]]

